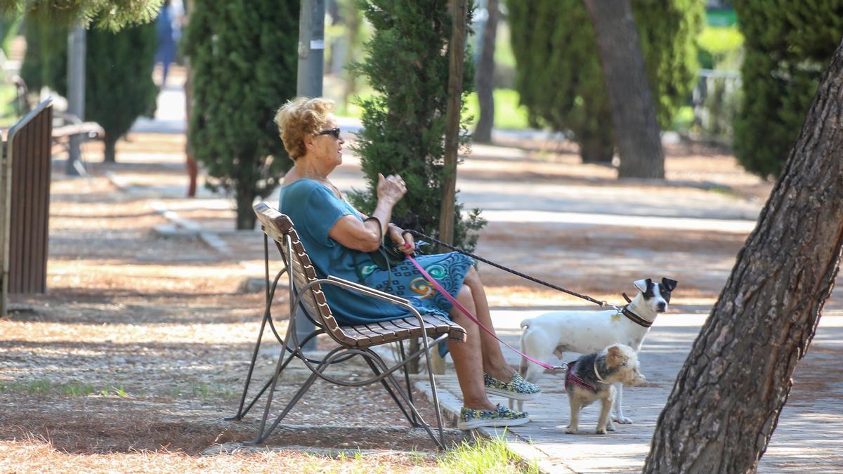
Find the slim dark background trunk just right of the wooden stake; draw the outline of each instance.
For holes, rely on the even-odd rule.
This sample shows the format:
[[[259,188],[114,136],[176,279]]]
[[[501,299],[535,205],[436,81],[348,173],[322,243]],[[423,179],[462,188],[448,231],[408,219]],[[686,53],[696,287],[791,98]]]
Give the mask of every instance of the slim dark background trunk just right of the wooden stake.
[[[491,127],[495,123],[495,99],[492,95],[492,76],[495,73],[495,39],[497,38],[498,0],[486,4],[486,26],[483,28],[483,51],[477,65],[477,100],[480,104],[480,118],[477,120],[472,140],[476,143],[491,143]]]

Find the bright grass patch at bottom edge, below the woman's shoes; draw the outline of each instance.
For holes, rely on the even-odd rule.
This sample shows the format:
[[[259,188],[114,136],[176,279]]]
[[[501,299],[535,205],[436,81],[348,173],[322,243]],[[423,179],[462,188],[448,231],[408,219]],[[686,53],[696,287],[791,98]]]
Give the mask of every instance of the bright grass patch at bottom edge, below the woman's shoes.
[[[515,455],[503,437],[464,441],[439,459],[443,472],[518,472],[537,474],[539,466]]]

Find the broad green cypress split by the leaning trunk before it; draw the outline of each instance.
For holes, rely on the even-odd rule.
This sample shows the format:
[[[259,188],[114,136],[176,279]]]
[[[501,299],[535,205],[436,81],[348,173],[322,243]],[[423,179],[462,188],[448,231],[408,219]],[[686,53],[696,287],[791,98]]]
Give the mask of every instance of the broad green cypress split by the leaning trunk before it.
[[[571,132],[584,162],[605,162],[615,148],[609,97],[594,30],[582,0],[510,0],[516,89],[534,126]],[[695,35],[703,5],[695,0],[632,3],[661,127],[693,89]]]

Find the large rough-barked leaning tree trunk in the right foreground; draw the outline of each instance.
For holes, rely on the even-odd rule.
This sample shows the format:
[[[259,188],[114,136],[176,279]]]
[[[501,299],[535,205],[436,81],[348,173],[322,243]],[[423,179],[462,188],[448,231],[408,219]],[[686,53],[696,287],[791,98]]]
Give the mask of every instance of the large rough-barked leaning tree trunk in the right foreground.
[[[843,247],[843,43],[787,166],[659,416],[644,472],[751,472]]]

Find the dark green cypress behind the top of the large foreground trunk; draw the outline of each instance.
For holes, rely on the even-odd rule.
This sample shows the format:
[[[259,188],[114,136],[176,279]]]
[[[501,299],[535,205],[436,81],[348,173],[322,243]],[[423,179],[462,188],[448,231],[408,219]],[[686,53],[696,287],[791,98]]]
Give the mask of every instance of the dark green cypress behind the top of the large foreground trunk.
[[[778,176],[843,35],[843,2],[736,0],[733,7],[745,38],[733,148],[746,170]]]

